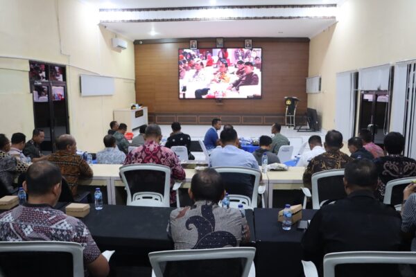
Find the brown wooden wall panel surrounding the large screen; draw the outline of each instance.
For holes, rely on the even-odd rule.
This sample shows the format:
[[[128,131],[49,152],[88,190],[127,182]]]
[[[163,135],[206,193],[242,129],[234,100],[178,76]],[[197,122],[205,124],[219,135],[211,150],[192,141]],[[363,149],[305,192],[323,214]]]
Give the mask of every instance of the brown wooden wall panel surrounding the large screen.
[[[225,39],[226,47],[242,45],[242,40]],[[284,96],[297,96],[300,99],[297,114],[304,114],[306,111],[305,78],[308,76],[309,42],[288,42],[287,39],[281,42],[259,39],[256,42],[254,38],[253,46],[263,48],[262,98],[224,99],[223,105],[217,105],[211,99],[179,99],[177,53],[179,48],[188,46],[189,42],[135,44],[136,100],[147,106],[150,114],[206,114],[198,118],[200,124],[210,124],[216,114],[281,116],[285,112]],[[198,47],[215,47],[215,41],[200,42]],[[194,121],[193,118],[184,119]],[[241,118],[241,124],[248,124],[250,121],[253,121],[252,124],[269,124],[269,120],[265,122],[263,118]]]

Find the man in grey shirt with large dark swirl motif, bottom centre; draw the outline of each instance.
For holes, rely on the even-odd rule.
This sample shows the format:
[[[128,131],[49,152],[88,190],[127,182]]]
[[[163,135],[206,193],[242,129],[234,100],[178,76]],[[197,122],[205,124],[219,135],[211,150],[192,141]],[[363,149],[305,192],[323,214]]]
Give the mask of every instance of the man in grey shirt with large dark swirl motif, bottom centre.
[[[215,170],[207,168],[193,175],[188,193],[195,204],[172,211],[168,224],[175,249],[239,247],[250,241],[245,216],[236,208],[218,206],[225,190]]]

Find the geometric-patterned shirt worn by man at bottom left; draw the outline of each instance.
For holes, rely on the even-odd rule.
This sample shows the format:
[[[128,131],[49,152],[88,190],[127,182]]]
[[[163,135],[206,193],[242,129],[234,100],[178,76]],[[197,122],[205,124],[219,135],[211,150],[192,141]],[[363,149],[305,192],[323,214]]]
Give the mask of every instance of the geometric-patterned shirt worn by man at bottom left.
[[[25,204],[0,214],[0,240],[77,242],[83,247],[85,265],[101,254],[83,222],[47,204]]]

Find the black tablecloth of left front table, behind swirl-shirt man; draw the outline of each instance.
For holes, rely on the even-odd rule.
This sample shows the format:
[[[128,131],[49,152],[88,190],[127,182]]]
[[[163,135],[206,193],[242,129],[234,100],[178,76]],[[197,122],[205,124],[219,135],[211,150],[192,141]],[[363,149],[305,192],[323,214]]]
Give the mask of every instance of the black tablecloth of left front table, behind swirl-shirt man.
[[[101,249],[163,251],[173,249],[166,227],[173,208],[104,205],[91,207],[83,222]],[[246,211],[255,242],[253,212]]]

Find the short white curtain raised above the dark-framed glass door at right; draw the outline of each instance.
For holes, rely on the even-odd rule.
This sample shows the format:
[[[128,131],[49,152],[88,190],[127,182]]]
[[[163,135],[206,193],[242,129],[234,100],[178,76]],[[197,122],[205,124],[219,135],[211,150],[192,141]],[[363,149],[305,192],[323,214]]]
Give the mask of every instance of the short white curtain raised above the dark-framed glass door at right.
[[[390,64],[373,66],[358,71],[358,89],[362,91],[387,91],[390,80]]]

